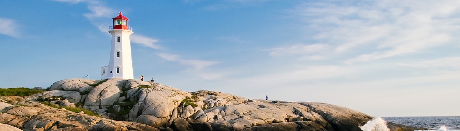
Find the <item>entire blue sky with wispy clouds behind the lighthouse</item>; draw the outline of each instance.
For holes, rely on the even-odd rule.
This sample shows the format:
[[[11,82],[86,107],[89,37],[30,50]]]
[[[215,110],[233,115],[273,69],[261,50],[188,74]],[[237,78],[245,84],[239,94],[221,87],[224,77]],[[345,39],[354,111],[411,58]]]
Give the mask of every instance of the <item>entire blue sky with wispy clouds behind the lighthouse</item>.
[[[135,77],[374,116],[460,116],[458,0],[1,3],[3,88],[100,79],[121,11]]]

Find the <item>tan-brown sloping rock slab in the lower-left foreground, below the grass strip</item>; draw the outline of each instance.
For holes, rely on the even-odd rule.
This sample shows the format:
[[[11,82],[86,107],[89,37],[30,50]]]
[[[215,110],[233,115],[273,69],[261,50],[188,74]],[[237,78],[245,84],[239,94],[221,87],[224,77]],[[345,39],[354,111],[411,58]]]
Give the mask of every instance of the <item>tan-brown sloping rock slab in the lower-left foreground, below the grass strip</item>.
[[[8,103],[11,106],[0,108],[0,123],[15,128],[7,128],[11,130],[6,131],[158,131],[157,128],[140,123],[79,114],[34,101],[16,99]],[[6,105],[4,102],[0,104]],[[0,129],[5,131],[4,128]]]

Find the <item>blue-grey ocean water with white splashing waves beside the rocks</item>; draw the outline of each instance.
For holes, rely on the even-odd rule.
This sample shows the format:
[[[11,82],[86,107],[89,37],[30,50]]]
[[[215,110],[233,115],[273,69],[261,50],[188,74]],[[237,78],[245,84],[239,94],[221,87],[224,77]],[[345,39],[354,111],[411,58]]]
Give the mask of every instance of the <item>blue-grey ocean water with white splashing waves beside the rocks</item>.
[[[451,117],[376,117],[366,125],[360,126],[362,131],[389,131],[386,122],[406,126],[425,127],[423,131],[460,131],[460,116]],[[417,131],[417,130],[416,130]]]

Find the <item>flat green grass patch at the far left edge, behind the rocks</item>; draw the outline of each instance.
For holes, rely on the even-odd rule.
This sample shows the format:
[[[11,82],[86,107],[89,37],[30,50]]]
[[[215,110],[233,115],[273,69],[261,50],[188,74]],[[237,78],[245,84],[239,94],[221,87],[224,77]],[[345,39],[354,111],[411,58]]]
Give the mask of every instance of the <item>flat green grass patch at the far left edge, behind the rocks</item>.
[[[37,93],[42,93],[45,90],[34,90],[26,87],[15,87],[15,88],[0,88],[0,96],[31,96]]]

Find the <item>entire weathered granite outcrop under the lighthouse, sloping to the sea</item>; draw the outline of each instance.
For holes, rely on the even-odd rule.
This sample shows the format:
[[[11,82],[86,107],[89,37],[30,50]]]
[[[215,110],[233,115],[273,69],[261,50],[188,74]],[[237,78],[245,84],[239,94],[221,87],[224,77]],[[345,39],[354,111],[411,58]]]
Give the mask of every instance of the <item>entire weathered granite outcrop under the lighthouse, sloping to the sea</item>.
[[[13,105],[11,99],[10,104],[0,103],[0,123],[27,131],[361,131],[358,126],[374,118],[333,104],[247,99],[207,90],[189,93],[134,79],[66,79],[50,89],[15,101],[27,106]],[[103,118],[33,102],[43,99],[92,110]],[[388,126],[391,131],[419,129]]]

